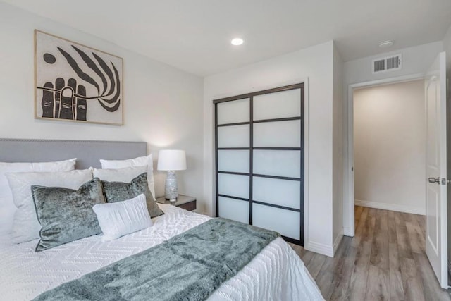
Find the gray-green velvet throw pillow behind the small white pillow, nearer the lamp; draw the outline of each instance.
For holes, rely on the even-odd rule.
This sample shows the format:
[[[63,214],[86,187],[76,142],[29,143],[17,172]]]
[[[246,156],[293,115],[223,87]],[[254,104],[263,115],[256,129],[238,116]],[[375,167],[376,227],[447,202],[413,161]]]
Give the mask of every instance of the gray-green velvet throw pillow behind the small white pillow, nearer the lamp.
[[[143,193],[146,196],[147,210],[149,210],[150,217],[164,214],[154,201],[152,192],[149,190],[149,185],[147,185],[147,173],[141,173],[140,176],[134,178],[130,183],[107,181],[101,181],[101,183],[104,186],[106,202],[121,202],[126,199],[137,197]]]

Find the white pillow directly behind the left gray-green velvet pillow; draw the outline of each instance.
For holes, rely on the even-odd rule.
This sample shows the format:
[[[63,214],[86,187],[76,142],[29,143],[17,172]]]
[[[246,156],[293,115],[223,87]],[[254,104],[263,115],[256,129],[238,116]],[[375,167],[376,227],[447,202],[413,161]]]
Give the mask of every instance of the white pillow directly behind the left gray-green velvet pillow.
[[[89,169],[76,171],[57,171],[40,173],[6,173],[13,201],[17,207],[14,214],[11,241],[27,242],[39,238],[41,225],[37,221],[31,185],[78,189],[83,183],[92,180]]]

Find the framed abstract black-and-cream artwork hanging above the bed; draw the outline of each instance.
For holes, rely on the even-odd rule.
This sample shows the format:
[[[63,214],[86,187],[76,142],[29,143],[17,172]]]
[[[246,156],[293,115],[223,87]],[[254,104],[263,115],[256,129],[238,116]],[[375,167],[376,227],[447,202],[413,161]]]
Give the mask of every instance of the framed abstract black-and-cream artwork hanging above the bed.
[[[123,59],[35,30],[35,118],[123,124]]]

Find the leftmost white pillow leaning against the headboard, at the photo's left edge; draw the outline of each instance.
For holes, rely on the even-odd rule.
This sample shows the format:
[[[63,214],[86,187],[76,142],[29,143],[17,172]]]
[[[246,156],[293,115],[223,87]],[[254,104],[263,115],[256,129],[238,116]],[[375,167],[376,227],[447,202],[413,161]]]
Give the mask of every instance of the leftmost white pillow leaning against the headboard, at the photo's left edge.
[[[28,171],[73,171],[76,159],[54,162],[0,162],[0,235],[11,233],[13,216],[16,212],[13,195],[9,189],[5,173],[20,173]]]

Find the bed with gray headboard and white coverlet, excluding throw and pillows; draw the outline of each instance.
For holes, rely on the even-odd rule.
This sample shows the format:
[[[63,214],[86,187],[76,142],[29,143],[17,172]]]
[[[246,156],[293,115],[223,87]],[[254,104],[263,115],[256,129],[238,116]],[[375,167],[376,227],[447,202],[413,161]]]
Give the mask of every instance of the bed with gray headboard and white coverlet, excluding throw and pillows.
[[[0,161],[50,161],[77,157],[77,168],[99,167],[99,159],[147,155],[145,142],[0,140]],[[2,300],[31,300],[63,283],[140,254],[205,224],[211,217],[159,204],[164,212],[153,226],[104,242],[101,235],[35,252],[37,240],[13,244],[0,238]],[[146,298],[147,299],[147,298]],[[152,300],[149,296],[148,300]],[[269,242],[208,300],[323,300],[318,287],[292,248],[278,237]]]

